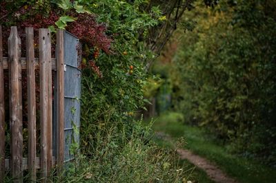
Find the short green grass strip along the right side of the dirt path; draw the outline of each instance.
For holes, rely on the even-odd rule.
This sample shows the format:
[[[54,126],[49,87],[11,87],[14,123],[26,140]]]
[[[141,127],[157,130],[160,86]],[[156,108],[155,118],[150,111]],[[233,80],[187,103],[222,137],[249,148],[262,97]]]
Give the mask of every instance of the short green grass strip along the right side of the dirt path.
[[[181,123],[181,115],[177,113],[162,114],[155,119],[152,128],[155,131],[168,133],[173,140],[184,137],[186,149],[215,162],[223,171],[239,182],[275,182],[276,169],[266,166],[256,160],[248,160],[238,155],[233,155],[226,147],[217,144],[215,139],[199,127],[191,127]],[[164,147],[172,147],[168,142],[157,143]]]

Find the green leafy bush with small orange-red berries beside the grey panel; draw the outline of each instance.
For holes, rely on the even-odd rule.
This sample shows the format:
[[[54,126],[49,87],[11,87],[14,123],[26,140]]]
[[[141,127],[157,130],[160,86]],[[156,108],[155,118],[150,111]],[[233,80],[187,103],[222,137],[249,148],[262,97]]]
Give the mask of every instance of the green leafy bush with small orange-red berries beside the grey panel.
[[[139,30],[146,31],[149,26],[157,25],[149,14],[139,11],[140,3],[99,1],[97,4],[97,8],[91,10],[99,14],[99,21],[108,23],[108,34],[115,35],[114,54],[100,54],[95,60],[101,77],[90,69],[83,69],[81,143],[86,148],[95,147],[97,129],[114,126],[119,133],[124,127],[126,131],[133,127],[133,116],[144,105],[144,59],[148,54],[137,34]]]

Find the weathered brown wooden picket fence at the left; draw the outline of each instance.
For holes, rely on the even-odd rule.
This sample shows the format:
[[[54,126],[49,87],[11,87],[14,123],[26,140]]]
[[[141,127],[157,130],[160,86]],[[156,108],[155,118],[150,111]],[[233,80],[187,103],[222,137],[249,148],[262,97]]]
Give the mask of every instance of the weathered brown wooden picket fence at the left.
[[[51,57],[51,36],[48,29],[39,29],[39,58],[34,58],[33,28],[26,28],[26,58],[21,58],[21,39],[17,27],[12,27],[8,38],[8,58],[3,57],[0,26],[0,182],[5,170],[10,169],[14,182],[23,182],[23,171],[37,180],[37,169],[43,182],[48,182],[52,167],[61,172],[64,160],[64,53],[63,30],[57,30],[56,58]],[[9,73],[10,158],[5,158],[5,100],[4,70]],[[21,70],[27,72],[28,100],[28,158],[23,158]],[[40,154],[37,153],[35,69],[39,69]],[[56,74],[56,121],[52,116],[52,70]],[[56,149],[53,149],[53,124],[56,125]],[[56,155],[53,156],[53,150]]]

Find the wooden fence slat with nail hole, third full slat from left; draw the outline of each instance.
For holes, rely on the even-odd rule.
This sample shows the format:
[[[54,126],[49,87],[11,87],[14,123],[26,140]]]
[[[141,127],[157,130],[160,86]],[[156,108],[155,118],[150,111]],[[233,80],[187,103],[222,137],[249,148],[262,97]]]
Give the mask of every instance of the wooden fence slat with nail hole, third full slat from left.
[[[40,127],[41,127],[41,177],[47,182],[47,122],[48,122],[48,77],[47,43],[48,29],[39,29],[39,86],[40,86]]]

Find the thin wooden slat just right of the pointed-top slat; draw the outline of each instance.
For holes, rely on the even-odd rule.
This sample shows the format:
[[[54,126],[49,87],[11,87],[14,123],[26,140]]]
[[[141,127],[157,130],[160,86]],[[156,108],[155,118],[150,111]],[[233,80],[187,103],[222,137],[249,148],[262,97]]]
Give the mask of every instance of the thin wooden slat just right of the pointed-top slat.
[[[36,159],[36,105],[35,105],[35,75],[34,75],[34,30],[26,28],[26,62],[28,88],[28,170],[30,180],[35,181],[37,171]]]

